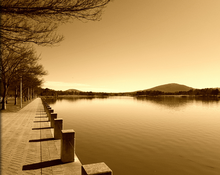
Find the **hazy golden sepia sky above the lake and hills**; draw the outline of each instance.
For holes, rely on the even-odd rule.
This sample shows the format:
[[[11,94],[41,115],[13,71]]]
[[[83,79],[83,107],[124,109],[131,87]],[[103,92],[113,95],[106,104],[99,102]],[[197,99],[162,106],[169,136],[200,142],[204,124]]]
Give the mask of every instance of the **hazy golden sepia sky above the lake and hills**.
[[[220,0],[114,0],[37,47],[44,88],[128,92],[166,83],[220,87]]]

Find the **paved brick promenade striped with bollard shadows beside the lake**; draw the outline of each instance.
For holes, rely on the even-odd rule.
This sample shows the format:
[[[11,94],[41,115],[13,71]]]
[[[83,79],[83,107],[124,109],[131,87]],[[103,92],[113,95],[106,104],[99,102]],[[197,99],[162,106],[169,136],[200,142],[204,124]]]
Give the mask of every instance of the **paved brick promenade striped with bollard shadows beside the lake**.
[[[16,113],[1,114],[1,173],[81,175],[81,163],[63,164],[60,140],[53,129],[40,98]]]

